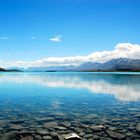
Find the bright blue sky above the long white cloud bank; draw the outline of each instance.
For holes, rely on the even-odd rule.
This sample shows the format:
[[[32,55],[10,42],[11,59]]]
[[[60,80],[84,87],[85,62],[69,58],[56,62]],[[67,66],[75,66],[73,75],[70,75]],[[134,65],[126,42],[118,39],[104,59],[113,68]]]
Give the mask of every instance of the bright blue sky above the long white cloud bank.
[[[139,0],[1,0],[0,61],[88,55],[140,44]]]

